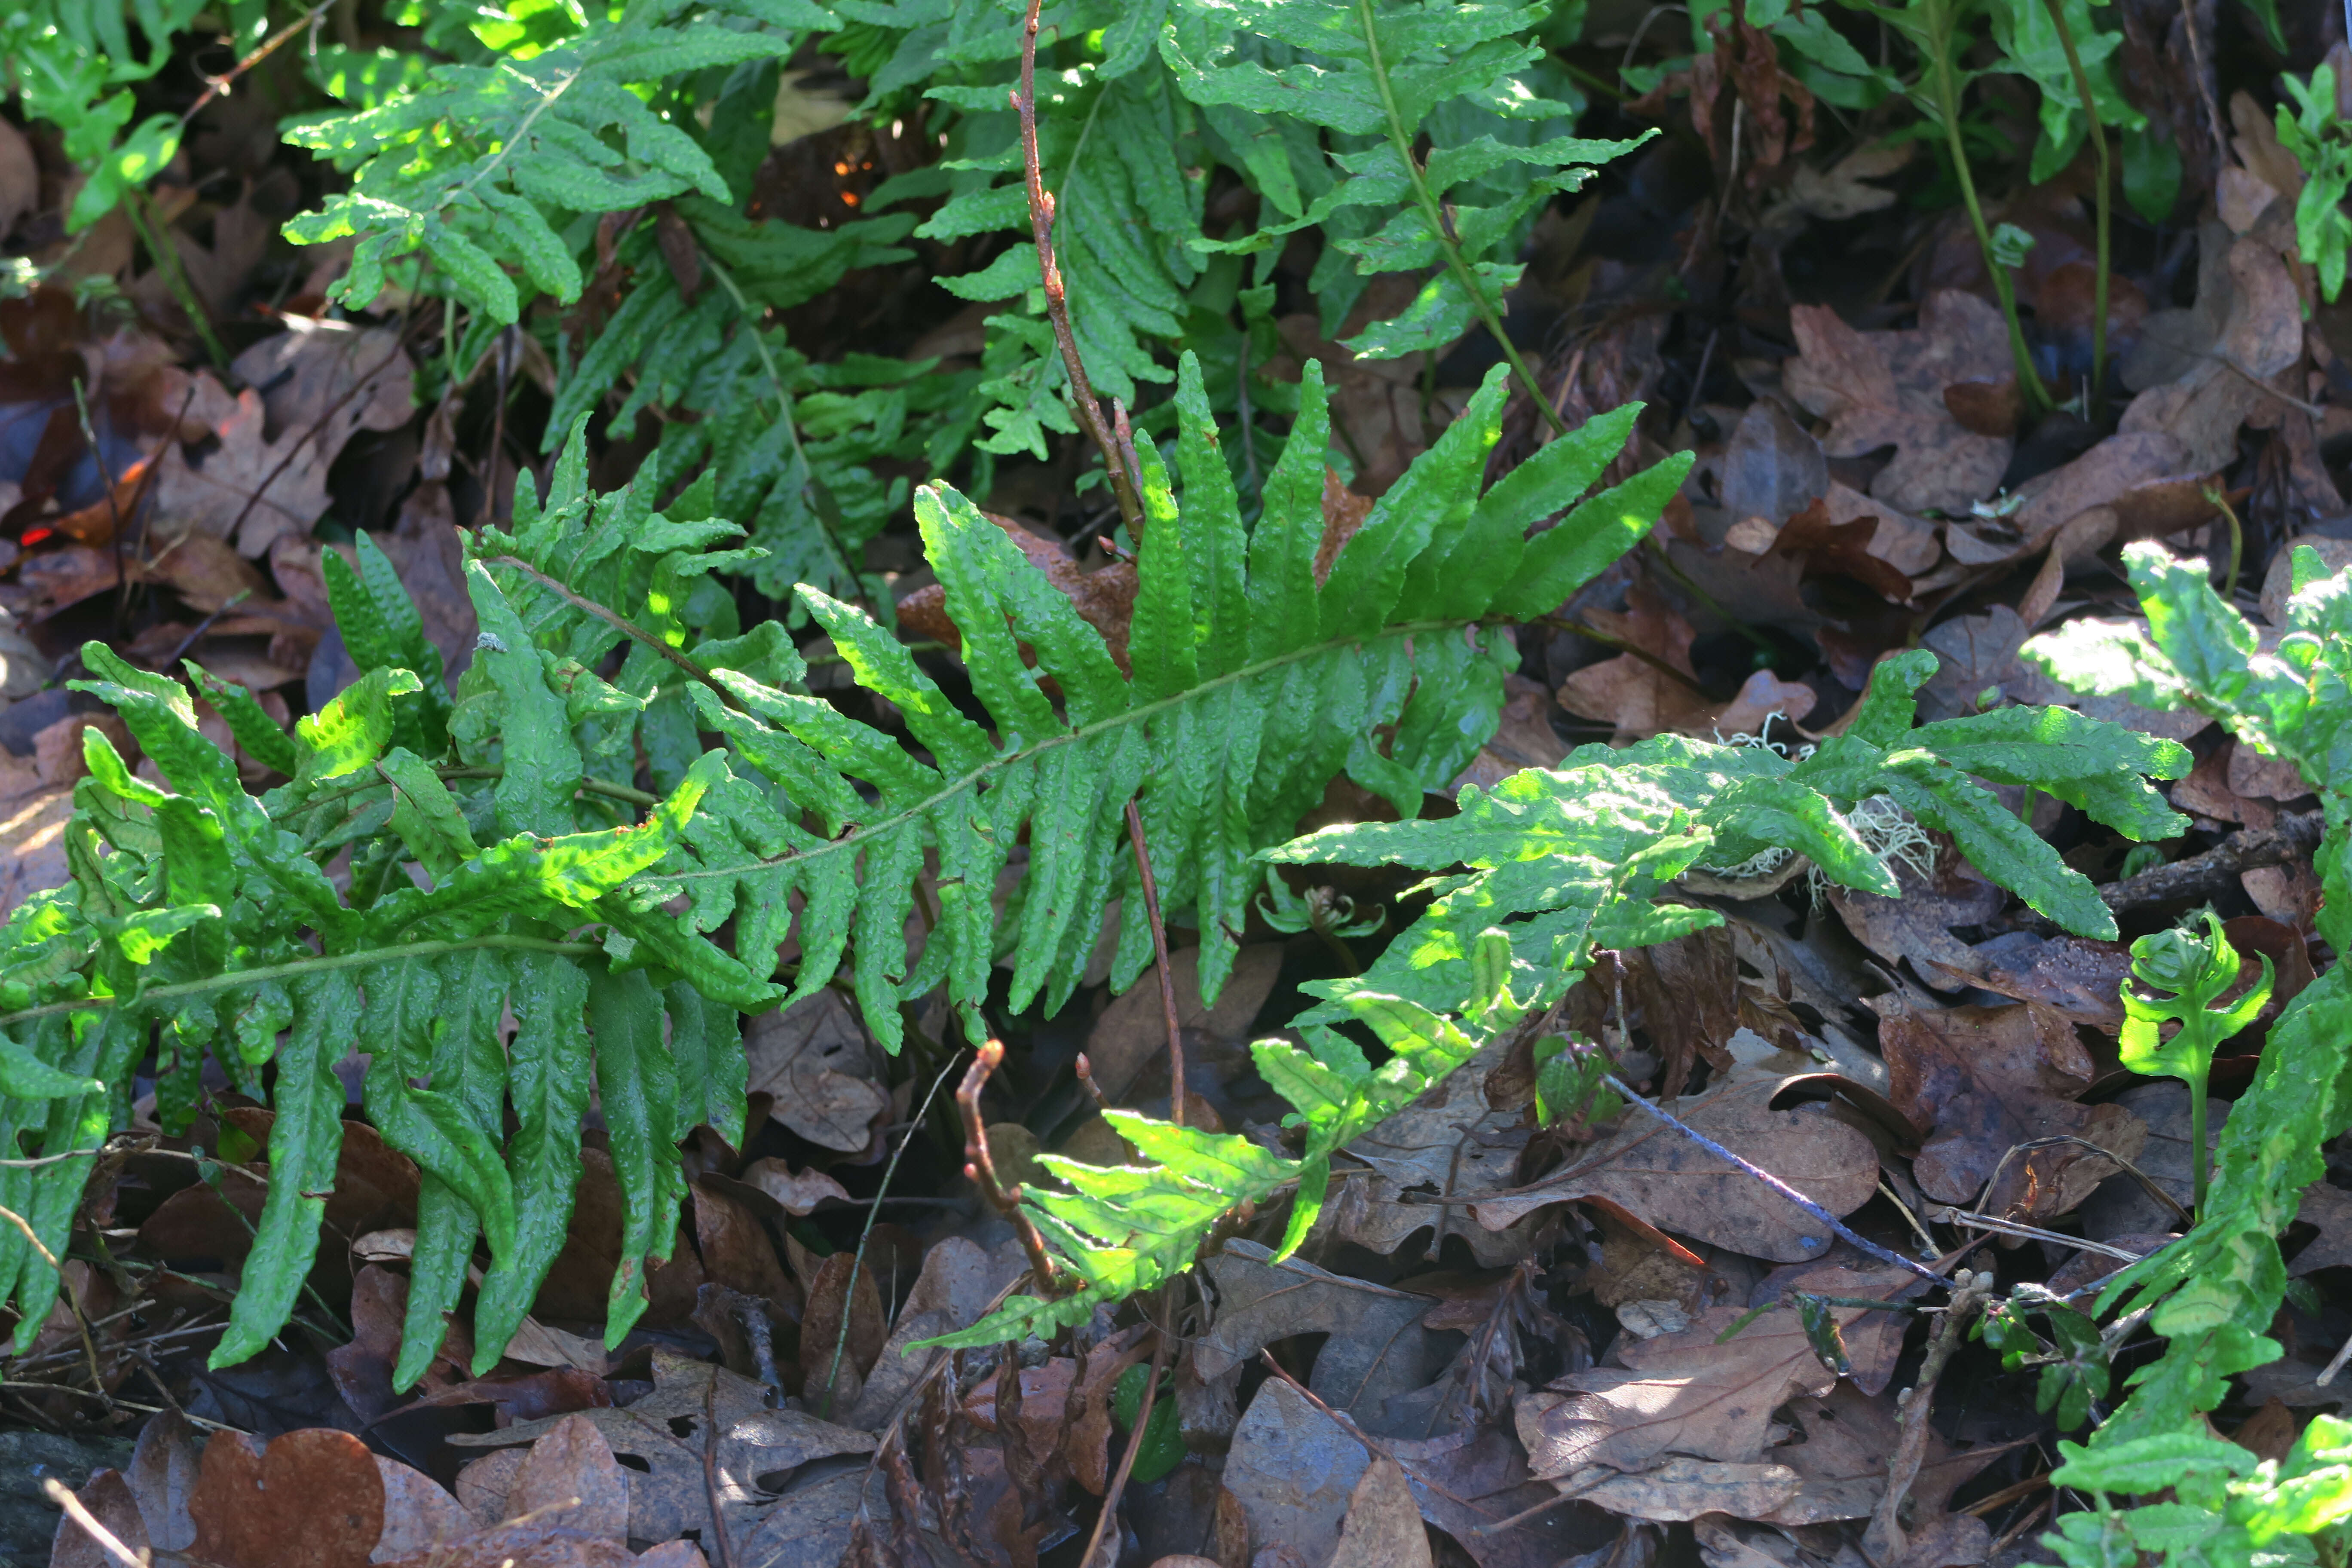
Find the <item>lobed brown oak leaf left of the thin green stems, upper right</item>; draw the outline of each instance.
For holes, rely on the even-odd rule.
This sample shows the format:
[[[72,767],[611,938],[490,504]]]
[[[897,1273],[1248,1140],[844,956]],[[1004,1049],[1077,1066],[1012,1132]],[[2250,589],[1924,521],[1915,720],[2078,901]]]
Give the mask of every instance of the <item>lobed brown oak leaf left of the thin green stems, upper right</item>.
[[[1828,306],[1795,306],[1790,397],[1830,421],[1820,447],[1858,458],[1893,447],[1870,494],[1905,512],[1966,512],[2002,482],[2009,437],[1976,435],[1943,400],[1962,381],[2011,374],[2009,329],[1973,294],[1938,289],[1910,331],[1856,331]]]

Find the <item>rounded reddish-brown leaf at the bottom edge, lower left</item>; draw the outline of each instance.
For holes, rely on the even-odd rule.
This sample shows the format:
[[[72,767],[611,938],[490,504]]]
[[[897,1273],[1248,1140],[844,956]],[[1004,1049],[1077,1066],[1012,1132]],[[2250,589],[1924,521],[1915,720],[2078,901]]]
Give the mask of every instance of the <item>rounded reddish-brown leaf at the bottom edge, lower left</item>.
[[[188,1516],[191,1556],[223,1568],[360,1568],[383,1535],[383,1476],[350,1432],[214,1432]]]

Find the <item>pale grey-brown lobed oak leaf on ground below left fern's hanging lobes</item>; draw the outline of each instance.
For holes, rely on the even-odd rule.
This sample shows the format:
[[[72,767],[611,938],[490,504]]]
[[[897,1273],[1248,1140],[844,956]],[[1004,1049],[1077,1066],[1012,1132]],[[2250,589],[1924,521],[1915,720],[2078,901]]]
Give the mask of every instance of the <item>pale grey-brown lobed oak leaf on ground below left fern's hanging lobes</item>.
[[[800,1410],[767,1408],[769,1389],[722,1366],[654,1349],[652,1371],[654,1392],[628,1408],[579,1413],[581,1420],[595,1422],[614,1455],[644,1465],[628,1474],[633,1540],[675,1540],[687,1530],[708,1537],[713,1490],[729,1528],[750,1526],[774,1502],[793,1469],[837,1453],[868,1453],[875,1446],[868,1432],[835,1427]],[[461,1432],[447,1441],[459,1448],[534,1443],[562,1420],[569,1418],[520,1420],[503,1432]],[[706,1443],[710,1479],[703,1472]],[[485,1483],[475,1490],[480,1495],[489,1488]]]

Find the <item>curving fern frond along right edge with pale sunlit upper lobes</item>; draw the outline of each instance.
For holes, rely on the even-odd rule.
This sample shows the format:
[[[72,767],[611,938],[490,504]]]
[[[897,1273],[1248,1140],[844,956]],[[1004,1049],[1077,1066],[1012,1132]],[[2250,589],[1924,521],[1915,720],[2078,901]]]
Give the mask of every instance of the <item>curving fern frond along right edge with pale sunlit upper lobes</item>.
[[[2152,543],[2131,545],[2124,562],[2145,625],[2077,621],[2027,642],[2025,656],[2079,691],[2126,696],[2143,708],[2192,708],[2227,724],[2260,755],[2293,762],[2319,790],[2326,813],[2314,856],[2326,893],[2319,936],[2336,952],[2352,950],[2352,776],[2345,766],[2352,574],[2324,576],[2319,555],[2298,548],[2286,635],[2274,654],[2263,654],[2256,628],[2213,592],[2204,562],[2176,559]],[[2133,1392],[2093,1436],[2093,1453],[2201,1432],[2204,1410],[2227,1396],[2234,1373],[2281,1354],[2263,1333],[2286,1293],[2279,1234],[2293,1222],[2303,1190],[2326,1173],[2321,1145],[2352,1124],[2347,1030],[2352,976],[2338,964],[2272,1020],[2253,1086],[2213,1150],[2211,1187],[2194,1229],[2107,1286],[2103,1305],[2152,1307],[2147,1326],[2169,1345],[2159,1361],[2131,1375]]]

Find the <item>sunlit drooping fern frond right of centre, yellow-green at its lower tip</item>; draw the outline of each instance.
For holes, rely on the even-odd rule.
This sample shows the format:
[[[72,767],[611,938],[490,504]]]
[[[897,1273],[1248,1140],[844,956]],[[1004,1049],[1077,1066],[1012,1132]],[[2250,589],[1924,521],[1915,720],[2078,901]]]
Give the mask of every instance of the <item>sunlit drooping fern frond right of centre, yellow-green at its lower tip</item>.
[[[1190,1267],[1216,1220],[1296,1185],[1282,1253],[1315,1222],[1331,1154],[1402,1110],[1496,1034],[1550,1009],[1599,947],[1644,947],[1722,924],[1715,910],[1656,896],[1700,856],[1762,849],[1811,856],[1844,886],[1893,896],[1896,882],[1846,811],[1893,795],[1964,844],[1978,867],[2082,936],[2114,917],[2082,872],[2016,825],[1969,778],[2025,783],[2084,804],[2126,837],[2187,823],[2147,778],[2180,778],[2185,748],[2065,710],[2013,708],[1912,729],[1912,693],[1936,670],[1926,651],[1884,661],[1844,736],[1806,762],[1762,748],[1658,736],[1628,750],[1588,745],[1557,771],[1529,769],[1491,792],[1465,788],[1444,820],[1327,827],[1258,856],[1275,863],[1411,865],[1437,872],[1437,898],[1371,969],[1308,985],[1305,1048],[1254,1046],[1258,1074],[1294,1107],[1301,1154],[1110,1112],[1152,1166],[1103,1168],[1044,1157],[1070,1192],[1030,1187],[1040,1229],[1070,1265],[1063,1295],[1009,1300],[946,1345],[985,1345],[1082,1321],[1098,1302]],[[1468,872],[1456,872],[1468,867]],[[1338,1027],[1369,1027],[1390,1058],[1374,1067]]]

